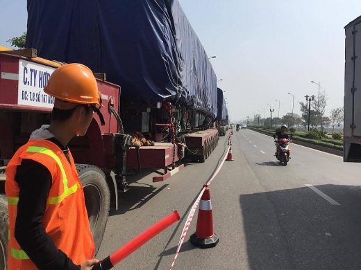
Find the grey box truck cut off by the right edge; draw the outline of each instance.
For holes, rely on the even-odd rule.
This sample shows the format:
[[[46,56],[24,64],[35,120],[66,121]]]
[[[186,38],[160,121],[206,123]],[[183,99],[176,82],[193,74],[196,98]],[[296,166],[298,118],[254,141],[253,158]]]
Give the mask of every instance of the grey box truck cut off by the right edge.
[[[344,162],[361,162],[361,16],[345,27]]]

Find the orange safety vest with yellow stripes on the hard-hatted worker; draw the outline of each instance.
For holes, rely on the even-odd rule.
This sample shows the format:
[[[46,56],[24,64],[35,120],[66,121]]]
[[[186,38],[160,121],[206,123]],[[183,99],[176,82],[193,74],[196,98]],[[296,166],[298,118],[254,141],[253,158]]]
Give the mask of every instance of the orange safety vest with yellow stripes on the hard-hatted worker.
[[[75,264],[94,258],[94,240],[85,208],[83,187],[70,152],[69,156],[71,163],[62,150],[50,141],[28,141],[17,150],[8,163],[5,191],[9,210],[9,270],[37,269],[14,236],[19,201],[19,186],[15,181],[15,174],[17,165],[20,165],[22,159],[37,161],[47,167],[51,173],[51,189],[42,217],[47,234],[58,249],[66,253]]]

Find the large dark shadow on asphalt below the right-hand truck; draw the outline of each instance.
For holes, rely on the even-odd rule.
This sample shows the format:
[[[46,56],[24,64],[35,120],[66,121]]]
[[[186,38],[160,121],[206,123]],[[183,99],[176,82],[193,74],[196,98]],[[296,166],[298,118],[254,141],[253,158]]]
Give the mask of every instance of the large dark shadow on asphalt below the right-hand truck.
[[[240,196],[250,269],[361,269],[360,186],[315,186]]]

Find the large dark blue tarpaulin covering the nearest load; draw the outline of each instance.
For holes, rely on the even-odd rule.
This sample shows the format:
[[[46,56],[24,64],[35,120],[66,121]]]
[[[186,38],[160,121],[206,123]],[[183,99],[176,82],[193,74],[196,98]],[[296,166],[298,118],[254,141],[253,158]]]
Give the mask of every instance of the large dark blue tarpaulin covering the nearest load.
[[[177,0],[28,0],[26,47],[80,62],[121,98],[181,102],[217,116],[217,78]]]

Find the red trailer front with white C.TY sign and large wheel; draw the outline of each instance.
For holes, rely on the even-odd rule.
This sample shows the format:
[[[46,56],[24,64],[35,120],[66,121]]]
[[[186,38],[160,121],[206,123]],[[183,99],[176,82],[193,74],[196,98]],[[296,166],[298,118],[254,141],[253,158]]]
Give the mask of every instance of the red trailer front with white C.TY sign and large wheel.
[[[8,206],[5,196],[5,168],[12,155],[24,145],[35,129],[49,123],[53,97],[43,88],[51,73],[60,66],[36,57],[36,50],[6,51],[0,47],[0,269],[6,269]],[[131,136],[121,134],[120,87],[98,78],[106,125],[94,115],[87,134],[73,138],[69,148],[83,183],[85,204],[96,251],[99,249],[110,206],[117,208],[119,190],[126,190],[125,152]],[[123,167],[124,166],[124,167]]]

